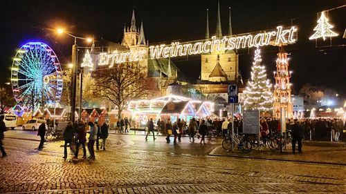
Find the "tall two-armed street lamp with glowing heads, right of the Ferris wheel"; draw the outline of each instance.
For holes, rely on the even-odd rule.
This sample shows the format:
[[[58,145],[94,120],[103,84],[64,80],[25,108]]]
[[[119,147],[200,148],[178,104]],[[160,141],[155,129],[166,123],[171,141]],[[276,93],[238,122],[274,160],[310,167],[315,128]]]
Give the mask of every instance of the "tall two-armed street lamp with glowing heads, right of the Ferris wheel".
[[[73,46],[72,46],[72,63],[71,63],[71,115],[70,115],[70,120],[74,124],[75,123],[75,93],[76,93],[76,88],[77,88],[77,70],[78,70],[78,55],[77,55],[77,39],[83,39],[86,40],[87,42],[92,42],[93,39],[91,38],[84,38],[84,37],[77,37],[75,35],[71,35],[69,32],[65,32],[63,28],[58,28],[57,29],[58,34],[66,34],[69,35],[70,37],[73,37],[75,39]],[[69,64],[70,67],[70,64]],[[82,96],[81,96],[82,98]],[[80,107],[82,105],[80,104]],[[80,118],[81,115],[79,115]]]

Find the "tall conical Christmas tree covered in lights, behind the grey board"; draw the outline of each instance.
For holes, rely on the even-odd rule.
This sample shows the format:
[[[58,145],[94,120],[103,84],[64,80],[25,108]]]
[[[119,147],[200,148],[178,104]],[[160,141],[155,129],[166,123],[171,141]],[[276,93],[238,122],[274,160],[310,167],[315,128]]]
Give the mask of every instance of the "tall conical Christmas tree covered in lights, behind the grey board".
[[[260,49],[255,50],[255,59],[251,67],[251,79],[246,84],[244,91],[245,110],[270,110],[273,108],[273,93],[271,84],[266,79],[266,68],[261,65]]]

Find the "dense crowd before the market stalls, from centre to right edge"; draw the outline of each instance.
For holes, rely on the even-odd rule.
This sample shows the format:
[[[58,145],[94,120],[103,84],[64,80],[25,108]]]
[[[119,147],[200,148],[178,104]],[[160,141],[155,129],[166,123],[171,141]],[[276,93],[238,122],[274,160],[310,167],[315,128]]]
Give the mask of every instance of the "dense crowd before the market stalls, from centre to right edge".
[[[232,127],[232,124],[234,126]],[[341,119],[286,119],[286,129],[284,135],[291,137],[292,151],[295,153],[295,144],[298,144],[298,153],[302,153],[302,139],[305,140],[330,140],[340,142],[340,136],[345,130],[345,124]],[[149,119],[147,122],[148,132],[145,137],[152,133],[154,140],[154,122]],[[157,134],[162,133],[167,135],[167,143],[171,142],[170,137],[174,137],[174,144],[181,142],[181,135],[188,135],[190,141],[194,142],[194,137],[201,137],[200,144],[206,144],[205,137],[222,136],[226,137],[227,133],[234,129],[237,134],[243,132],[243,119],[235,117],[234,122],[231,119],[191,119],[189,123],[183,119],[178,119],[172,124],[170,119],[163,121],[158,119],[156,123]],[[275,137],[281,133],[282,126],[279,119],[265,118],[260,119],[260,138],[264,145],[269,136]]]

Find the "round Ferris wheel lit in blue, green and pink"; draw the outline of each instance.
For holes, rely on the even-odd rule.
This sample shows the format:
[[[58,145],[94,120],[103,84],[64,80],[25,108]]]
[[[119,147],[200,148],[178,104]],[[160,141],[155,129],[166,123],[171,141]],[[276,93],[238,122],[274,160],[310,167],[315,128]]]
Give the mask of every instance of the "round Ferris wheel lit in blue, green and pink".
[[[62,96],[62,82],[59,60],[48,45],[28,42],[17,51],[11,83],[13,95],[21,106],[35,109],[57,104]]]

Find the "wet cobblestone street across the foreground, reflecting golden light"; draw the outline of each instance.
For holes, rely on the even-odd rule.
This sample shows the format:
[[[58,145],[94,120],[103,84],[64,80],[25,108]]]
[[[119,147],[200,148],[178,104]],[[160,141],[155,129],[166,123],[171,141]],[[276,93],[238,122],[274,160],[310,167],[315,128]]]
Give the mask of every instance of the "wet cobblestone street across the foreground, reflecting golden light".
[[[346,193],[345,166],[202,155],[212,145],[163,138],[114,135],[95,162],[65,162],[62,142],[5,139],[0,193]]]

